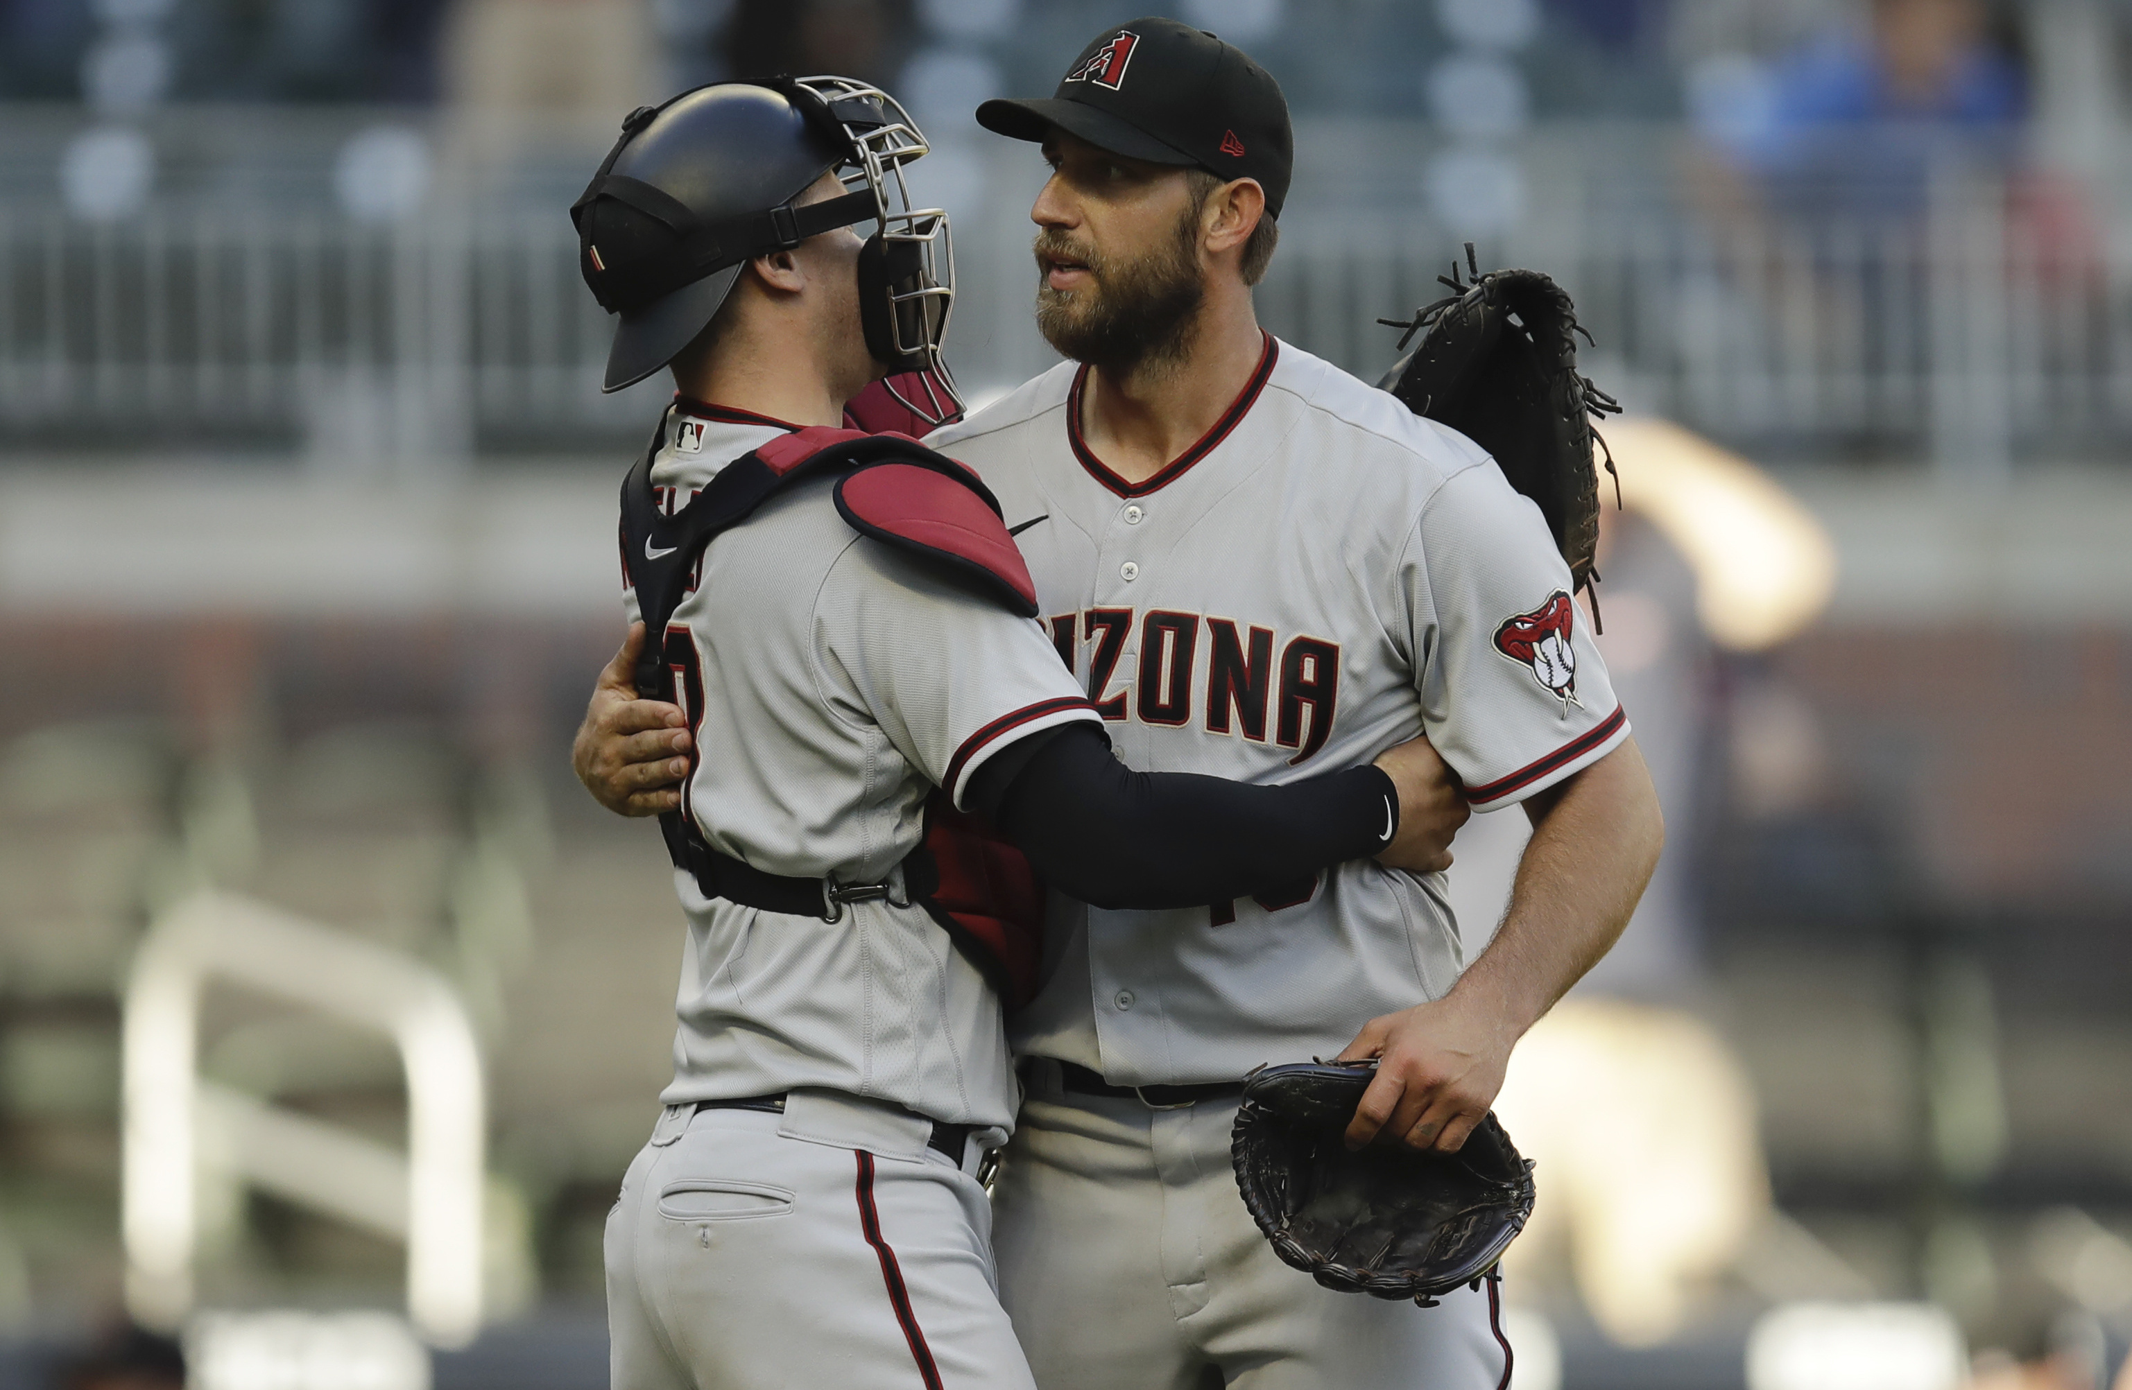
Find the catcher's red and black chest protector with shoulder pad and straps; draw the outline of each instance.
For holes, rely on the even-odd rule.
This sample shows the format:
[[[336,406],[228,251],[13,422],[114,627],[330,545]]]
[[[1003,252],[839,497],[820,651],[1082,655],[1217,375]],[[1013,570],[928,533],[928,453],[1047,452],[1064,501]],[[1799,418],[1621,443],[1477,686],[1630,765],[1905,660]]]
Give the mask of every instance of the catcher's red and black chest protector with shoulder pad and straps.
[[[663,433],[663,431],[661,431]],[[623,573],[637,591],[644,648],[635,684],[644,699],[676,699],[665,657],[667,623],[701,571],[710,544],[746,524],[780,490],[806,478],[836,478],[836,510],[876,542],[917,556],[1008,612],[1036,616],[1036,584],[1000,518],[1000,503],[976,473],[906,435],[804,429],[744,454],[672,514],[652,492],[659,441],[623,480]],[[676,642],[691,642],[674,633]],[[697,753],[716,740],[697,729]],[[693,774],[693,763],[691,763]],[[889,898],[889,885],[840,885],[834,878],[768,874],[718,853],[695,819],[659,817],[667,855],[706,898],[727,898],[774,912],[842,917],[849,902]],[[955,810],[940,789],[925,802],[925,834],[902,861],[904,891],[947,930],[1008,1008],[1036,993],[1043,959],[1043,885],[1030,861],[989,825]]]

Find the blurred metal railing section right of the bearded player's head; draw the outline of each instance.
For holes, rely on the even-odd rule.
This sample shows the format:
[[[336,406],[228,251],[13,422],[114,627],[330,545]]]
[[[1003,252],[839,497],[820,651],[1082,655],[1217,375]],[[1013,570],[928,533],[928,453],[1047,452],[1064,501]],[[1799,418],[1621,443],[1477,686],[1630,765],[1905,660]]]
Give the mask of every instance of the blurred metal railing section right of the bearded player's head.
[[[1989,192],[1989,190],[1987,190]],[[1936,226],[1825,217],[1721,235],[1678,211],[1595,220],[1550,271],[1595,335],[1584,365],[1631,407],[1761,456],[1929,456],[1991,473],[2017,458],[2113,458],[2132,446],[2132,305],[2123,266],[2010,237],[1978,196]],[[1283,243],[1260,318],[1375,377],[1405,313],[1445,290],[1394,247],[1399,222]],[[1482,262],[1484,266],[1488,260]]]

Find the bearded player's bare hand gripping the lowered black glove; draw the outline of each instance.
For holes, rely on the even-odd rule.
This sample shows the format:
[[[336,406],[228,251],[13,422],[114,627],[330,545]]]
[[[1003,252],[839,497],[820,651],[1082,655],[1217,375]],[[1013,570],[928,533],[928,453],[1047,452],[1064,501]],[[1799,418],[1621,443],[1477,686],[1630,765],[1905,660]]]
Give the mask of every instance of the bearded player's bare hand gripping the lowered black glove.
[[[1503,1089],[1516,1042],[1501,1008],[1458,989],[1371,1019],[1339,1055],[1377,1057],[1377,1079],[1347,1124],[1347,1147],[1375,1141],[1456,1153]]]

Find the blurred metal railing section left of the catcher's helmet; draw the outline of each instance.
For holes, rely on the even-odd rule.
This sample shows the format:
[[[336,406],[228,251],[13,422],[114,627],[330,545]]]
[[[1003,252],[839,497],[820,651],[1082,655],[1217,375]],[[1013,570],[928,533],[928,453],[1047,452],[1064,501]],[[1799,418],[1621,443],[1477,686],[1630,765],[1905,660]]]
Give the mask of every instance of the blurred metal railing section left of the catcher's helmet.
[[[567,232],[510,211],[373,228],[271,207],[128,226],[0,209],[0,431],[354,458],[635,431],[642,409],[599,394],[612,330]]]

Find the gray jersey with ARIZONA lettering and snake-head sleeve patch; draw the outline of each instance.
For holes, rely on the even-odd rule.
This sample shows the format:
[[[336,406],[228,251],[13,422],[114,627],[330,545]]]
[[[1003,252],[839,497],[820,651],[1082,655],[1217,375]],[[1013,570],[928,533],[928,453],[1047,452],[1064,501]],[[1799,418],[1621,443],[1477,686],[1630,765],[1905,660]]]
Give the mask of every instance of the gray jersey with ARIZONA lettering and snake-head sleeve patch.
[[[1064,362],[936,433],[985,475],[1053,642],[1145,772],[1283,782],[1428,733],[1475,810],[1629,729],[1539,510],[1463,435],[1266,337],[1245,392],[1128,484]],[[1332,1055],[1463,970],[1439,876],[1352,861],[1264,900],[1104,910],[1053,898],[1021,1051],[1113,1083],[1232,1081]]]

